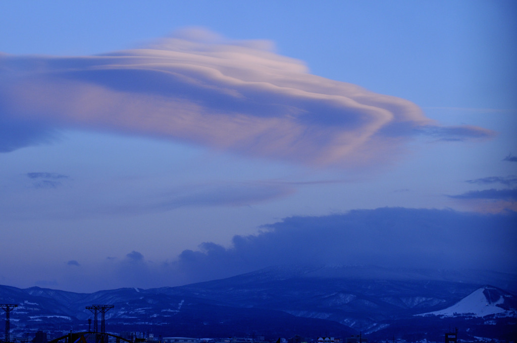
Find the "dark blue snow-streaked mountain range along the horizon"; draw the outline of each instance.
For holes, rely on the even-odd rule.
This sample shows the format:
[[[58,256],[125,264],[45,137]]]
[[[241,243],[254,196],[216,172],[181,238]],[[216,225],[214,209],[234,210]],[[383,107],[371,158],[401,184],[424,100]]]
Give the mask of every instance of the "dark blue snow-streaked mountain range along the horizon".
[[[114,305],[107,332],[155,336],[348,337],[443,341],[517,337],[517,275],[488,271],[281,266],[180,287],[74,293],[0,286],[11,336],[89,331],[86,309]],[[100,320],[100,316],[99,316]],[[99,323],[100,328],[100,323]],[[90,328],[93,330],[93,328]]]

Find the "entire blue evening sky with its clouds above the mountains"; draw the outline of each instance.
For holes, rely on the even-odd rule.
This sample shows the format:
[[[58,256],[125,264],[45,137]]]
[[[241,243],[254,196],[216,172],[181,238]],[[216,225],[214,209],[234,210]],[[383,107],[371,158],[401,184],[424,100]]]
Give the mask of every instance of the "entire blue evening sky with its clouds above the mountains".
[[[0,2],[0,284],[517,273],[515,13]]]

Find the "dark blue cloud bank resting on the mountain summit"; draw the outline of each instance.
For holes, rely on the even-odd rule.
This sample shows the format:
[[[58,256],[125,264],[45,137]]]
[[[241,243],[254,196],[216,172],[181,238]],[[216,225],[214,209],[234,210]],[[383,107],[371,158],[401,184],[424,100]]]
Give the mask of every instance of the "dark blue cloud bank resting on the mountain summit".
[[[118,287],[174,286],[293,264],[517,273],[516,241],[517,213],[511,211],[380,208],[296,216],[257,235],[235,236],[230,247],[205,242],[174,262],[150,262],[132,252],[128,257],[138,256],[138,273],[135,263],[121,262],[117,275],[125,285]]]

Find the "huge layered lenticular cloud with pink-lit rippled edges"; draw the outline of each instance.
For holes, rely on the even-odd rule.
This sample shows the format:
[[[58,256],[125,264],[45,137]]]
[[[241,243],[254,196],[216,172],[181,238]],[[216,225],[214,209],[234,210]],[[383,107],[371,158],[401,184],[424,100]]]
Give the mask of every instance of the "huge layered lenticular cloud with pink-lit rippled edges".
[[[438,128],[412,102],[311,75],[270,45],[185,30],[103,55],[0,55],[0,124],[17,128],[0,138],[0,151],[44,141],[45,130],[87,128],[309,165],[357,165]],[[465,127],[460,134],[450,138],[491,133]]]

